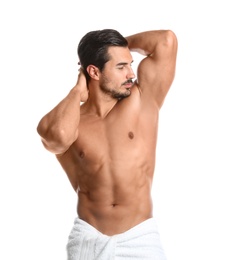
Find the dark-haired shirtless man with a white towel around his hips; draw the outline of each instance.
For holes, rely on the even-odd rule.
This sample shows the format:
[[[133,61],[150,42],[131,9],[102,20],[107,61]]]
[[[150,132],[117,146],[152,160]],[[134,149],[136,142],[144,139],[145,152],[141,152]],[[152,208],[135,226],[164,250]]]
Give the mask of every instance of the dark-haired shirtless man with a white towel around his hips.
[[[143,55],[137,79],[131,53]],[[152,214],[159,110],[173,82],[170,30],[87,33],[69,94],[37,131],[78,194],[68,259],[166,259]]]

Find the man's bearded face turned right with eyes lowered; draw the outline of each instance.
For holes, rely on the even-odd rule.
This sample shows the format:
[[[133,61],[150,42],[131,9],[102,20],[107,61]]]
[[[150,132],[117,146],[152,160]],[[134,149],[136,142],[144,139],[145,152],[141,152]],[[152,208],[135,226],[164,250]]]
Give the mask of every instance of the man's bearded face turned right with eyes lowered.
[[[101,73],[101,91],[116,99],[128,97],[135,78],[131,53],[128,47],[110,47],[108,52],[111,59]]]

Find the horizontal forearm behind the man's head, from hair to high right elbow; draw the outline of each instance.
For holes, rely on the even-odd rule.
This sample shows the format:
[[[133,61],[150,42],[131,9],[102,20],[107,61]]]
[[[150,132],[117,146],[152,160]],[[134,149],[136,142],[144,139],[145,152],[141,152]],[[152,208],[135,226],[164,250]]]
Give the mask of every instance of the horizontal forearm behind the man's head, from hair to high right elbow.
[[[142,55],[151,55],[155,53],[158,46],[167,45],[170,30],[145,31],[127,36],[128,47],[131,51]]]

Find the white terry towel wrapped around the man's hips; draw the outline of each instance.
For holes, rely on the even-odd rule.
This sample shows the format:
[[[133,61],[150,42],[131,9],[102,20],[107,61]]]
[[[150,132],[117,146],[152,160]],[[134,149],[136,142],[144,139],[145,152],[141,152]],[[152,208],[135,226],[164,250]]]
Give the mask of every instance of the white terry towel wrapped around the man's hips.
[[[67,243],[68,260],[166,260],[154,218],[107,236],[76,218]]]

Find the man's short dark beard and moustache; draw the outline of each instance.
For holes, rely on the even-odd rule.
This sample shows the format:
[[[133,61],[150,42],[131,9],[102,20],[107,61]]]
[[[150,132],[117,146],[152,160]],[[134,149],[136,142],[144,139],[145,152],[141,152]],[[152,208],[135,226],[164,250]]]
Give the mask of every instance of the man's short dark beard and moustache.
[[[127,82],[130,83],[130,82],[132,82],[132,80],[131,79],[127,80],[126,82],[121,84],[121,86],[125,85],[125,83],[127,83]],[[103,77],[103,80],[100,84],[100,89],[104,94],[106,94],[114,99],[118,99],[118,100],[130,96],[130,94],[131,94],[130,88],[115,89],[115,88],[109,87],[109,83],[111,83],[111,81],[109,81],[106,77]]]

